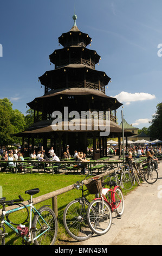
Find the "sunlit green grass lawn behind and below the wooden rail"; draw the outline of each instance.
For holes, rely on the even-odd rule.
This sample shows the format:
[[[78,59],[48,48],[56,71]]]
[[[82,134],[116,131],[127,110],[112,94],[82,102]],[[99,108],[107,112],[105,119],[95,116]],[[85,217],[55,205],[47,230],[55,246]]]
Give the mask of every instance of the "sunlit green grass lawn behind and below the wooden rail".
[[[11,174],[11,173],[1,173],[0,174],[0,186],[3,189],[3,197],[6,200],[11,199],[18,199],[18,195],[21,194],[24,200],[30,199],[28,194],[24,192],[26,190],[30,190],[32,188],[40,188],[40,193],[36,194],[34,197],[41,196],[43,194],[58,190],[60,188],[69,186],[74,184],[77,180],[83,179],[85,176],[80,175],[60,175],[60,174]],[[133,186],[134,188],[135,186]],[[124,194],[128,193],[129,191],[122,190]],[[66,205],[74,200],[75,198],[80,197],[80,191],[72,190],[57,196],[57,206],[58,206],[58,213],[59,213],[59,231],[57,235],[56,244],[62,244],[63,240],[68,240],[70,237],[67,235],[66,230],[63,226],[63,211]],[[93,195],[88,195],[87,198],[90,200],[93,199]],[[42,205],[49,204],[51,205],[51,199],[46,200],[40,204],[35,205],[36,208],[40,208]],[[22,214],[21,214],[22,215]],[[20,212],[13,215],[14,221],[20,220]],[[23,215],[20,216],[23,218]],[[12,219],[13,220],[13,219]],[[19,222],[18,222],[19,223]],[[22,239],[15,237],[15,233],[12,231],[7,230],[9,236],[6,236],[5,242],[7,245],[20,245]]]

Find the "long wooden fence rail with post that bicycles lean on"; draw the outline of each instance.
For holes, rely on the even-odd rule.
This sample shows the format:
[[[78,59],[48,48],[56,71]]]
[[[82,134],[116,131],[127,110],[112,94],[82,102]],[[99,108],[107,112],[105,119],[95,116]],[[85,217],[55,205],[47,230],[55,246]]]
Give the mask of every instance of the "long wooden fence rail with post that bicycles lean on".
[[[101,178],[101,177],[103,177],[103,176],[109,175],[109,174],[113,173],[115,169],[117,170],[117,169],[119,169],[119,168],[114,168],[114,169],[112,169],[112,170],[108,170],[107,172],[102,173],[102,174],[99,174],[98,176]],[[84,184],[86,185],[86,184],[89,183],[91,180],[92,180],[92,178],[89,178],[89,179],[84,180]],[[47,194],[43,194],[42,196],[33,198],[33,204],[38,204],[38,203],[41,203],[41,202],[46,201],[46,200],[48,200],[48,199],[51,198],[51,200],[52,200],[52,207],[53,207],[53,210],[54,210],[54,212],[55,212],[55,214],[56,214],[56,217],[57,217],[57,216],[58,216],[58,210],[57,210],[57,196],[59,196],[60,194],[66,193],[66,192],[68,192],[68,191],[70,191],[70,190],[73,190],[74,188],[75,188],[75,184],[69,185],[69,186],[67,186],[67,187],[60,188],[60,190],[55,190],[55,191],[53,191],[53,192],[50,192],[50,193],[47,193]],[[24,201],[23,204],[24,204],[24,205],[27,205],[27,204],[29,204],[29,202],[30,202],[30,200]],[[8,206],[8,207],[6,208],[6,211],[12,210],[12,209],[15,209],[15,208],[17,208],[17,205]],[[0,216],[1,216],[1,215],[2,215],[2,210],[0,210]]]

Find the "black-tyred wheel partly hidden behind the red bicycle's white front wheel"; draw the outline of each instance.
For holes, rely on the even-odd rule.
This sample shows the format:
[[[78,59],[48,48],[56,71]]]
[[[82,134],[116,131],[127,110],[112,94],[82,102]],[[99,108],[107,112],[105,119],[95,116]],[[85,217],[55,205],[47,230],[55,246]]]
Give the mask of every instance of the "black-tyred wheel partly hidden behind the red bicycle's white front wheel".
[[[63,212],[63,224],[67,233],[75,240],[84,241],[93,235],[87,223],[87,208],[89,203],[82,200],[70,202]]]

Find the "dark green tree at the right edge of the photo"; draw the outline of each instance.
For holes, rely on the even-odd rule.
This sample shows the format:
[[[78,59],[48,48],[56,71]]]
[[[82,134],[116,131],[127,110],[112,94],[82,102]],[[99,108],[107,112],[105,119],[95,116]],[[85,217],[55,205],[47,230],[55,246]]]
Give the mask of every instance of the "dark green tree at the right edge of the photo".
[[[148,127],[151,139],[162,140],[162,102],[158,103],[157,111],[152,115],[151,126]]]

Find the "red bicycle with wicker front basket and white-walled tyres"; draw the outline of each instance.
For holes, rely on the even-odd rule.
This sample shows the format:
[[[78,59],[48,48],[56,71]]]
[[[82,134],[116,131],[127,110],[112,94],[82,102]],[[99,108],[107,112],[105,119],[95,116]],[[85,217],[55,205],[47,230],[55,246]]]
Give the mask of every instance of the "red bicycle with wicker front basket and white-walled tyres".
[[[106,179],[107,177],[105,180]],[[105,188],[106,184],[111,188]],[[114,186],[113,190],[112,186]],[[100,192],[100,197],[96,197],[88,205],[87,221],[90,229],[95,234],[103,235],[106,234],[111,228],[112,212],[115,211],[117,216],[120,217],[124,213],[124,198],[122,196],[120,187],[116,186],[115,181],[101,182],[101,180],[98,179],[98,186],[96,187],[96,190]],[[90,186],[89,192],[91,193]],[[119,208],[119,206],[121,206],[121,208]]]

